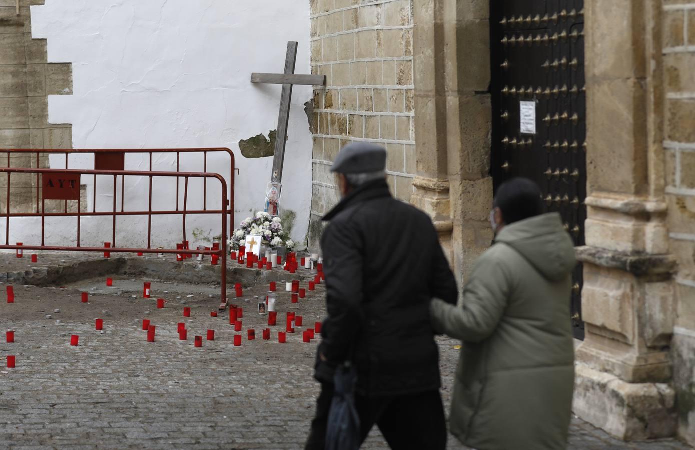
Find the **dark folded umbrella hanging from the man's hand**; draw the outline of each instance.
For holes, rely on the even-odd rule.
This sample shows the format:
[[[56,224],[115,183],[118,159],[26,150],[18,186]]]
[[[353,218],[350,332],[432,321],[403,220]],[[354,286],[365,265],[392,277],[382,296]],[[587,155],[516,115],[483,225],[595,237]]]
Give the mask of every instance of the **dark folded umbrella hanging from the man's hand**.
[[[359,449],[359,415],[354,404],[356,383],[357,372],[350,363],[336,369],[333,399],[326,428],[326,450]]]

